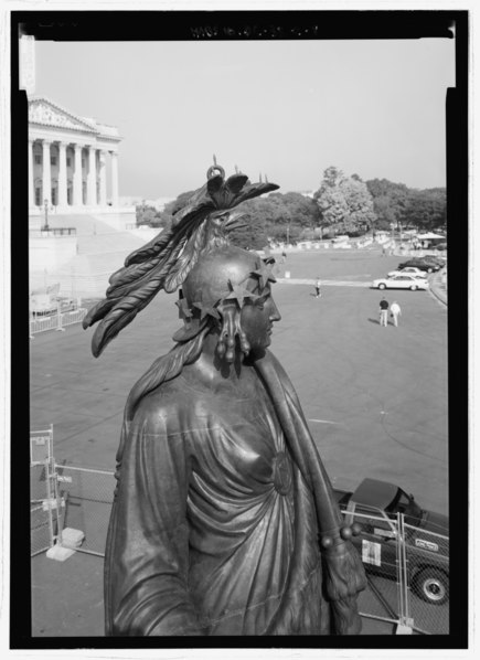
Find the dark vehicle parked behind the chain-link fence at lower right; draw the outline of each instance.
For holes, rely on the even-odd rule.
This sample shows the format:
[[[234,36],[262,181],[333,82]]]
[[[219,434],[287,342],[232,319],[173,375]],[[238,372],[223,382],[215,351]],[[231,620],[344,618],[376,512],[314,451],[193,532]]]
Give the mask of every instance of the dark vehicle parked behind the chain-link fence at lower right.
[[[355,491],[333,490],[348,524],[361,532],[352,536],[367,572],[397,578],[397,513],[404,514],[408,582],[415,593],[434,605],[449,597],[448,518],[423,509],[398,486],[364,479]]]

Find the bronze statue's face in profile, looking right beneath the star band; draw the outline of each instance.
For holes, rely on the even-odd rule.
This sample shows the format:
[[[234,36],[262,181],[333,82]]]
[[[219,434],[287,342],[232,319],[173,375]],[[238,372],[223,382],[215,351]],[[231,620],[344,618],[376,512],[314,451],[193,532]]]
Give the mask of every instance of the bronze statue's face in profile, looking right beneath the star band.
[[[250,353],[264,351],[271,343],[271,330],[275,321],[281,319],[271,297],[270,287],[265,287],[260,298],[242,308],[241,326],[245,332]]]

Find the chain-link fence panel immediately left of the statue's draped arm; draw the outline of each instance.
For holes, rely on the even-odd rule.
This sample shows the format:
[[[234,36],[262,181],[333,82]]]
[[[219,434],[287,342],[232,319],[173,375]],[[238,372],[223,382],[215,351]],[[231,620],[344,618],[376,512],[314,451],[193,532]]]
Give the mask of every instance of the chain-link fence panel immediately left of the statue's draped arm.
[[[114,501],[114,472],[57,464],[55,471],[60,496],[65,501],[63,530],[83,534],[82,543],[77,545],[71,544],[71,534],[65,532],[62,545],[104,556]]]

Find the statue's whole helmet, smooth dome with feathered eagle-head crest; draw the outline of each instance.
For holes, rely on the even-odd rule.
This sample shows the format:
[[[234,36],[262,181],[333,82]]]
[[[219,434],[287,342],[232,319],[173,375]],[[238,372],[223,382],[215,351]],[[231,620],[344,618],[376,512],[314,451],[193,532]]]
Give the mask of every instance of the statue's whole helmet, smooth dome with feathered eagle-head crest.
[[[227,312],[227,300],[233,299],[228,294],[235,290],[228,287],[239,286],[236,281],[246,281],[250,267],[265,269],[266,265],[260,259],[245,251],[232,248],[232,252],[224,254],[215,251],[230,245],[231,232],[246,224],[242,220],[244,214],[232,210],[243,202],[277,190],[278,185],[269,183],[266,177],[265,183],[262,177],[258,183],[252,183],[236,167],[235,174],[225,179],[225,171],[216,163],[215,157],[213,161],[214,166],[206,173],[206,182],[174,212],[164,231],[128,255],[125,266],[108,278],[106,298],[94,305],[82,321],[84,328],[100,321],[92,339],[92,352],[96,358],[161,289],[171,294],[182,285],[185,287],[188,298],[183,298],[183,307],[180,308],[185,328],[174,337],[177,341],[185,342],[206,328],[205,318],[209,315],[217,320],[224,309],[225,315],[230,313],[233,318],[234,315]],[[215,256],[212,256],[214,253]],[[242,278],[242,274],[245,274],[246,279]],[[258,277],[264,287],[264,270]],[[186,281],[186,278],[190,280]],[[255,285],[258,281],[254,277],[249,286]],[[216,295],[221,298],[215,301]],[[253,299],[252,296],[249,298]],[[185,307],[186,302],[193,308]],[[211,311],[205,311],[205,305],[212,306]],[[212,311],[214,309],[217,311]],[[246,349],[246,340],[241,334],[238,337]],[[220,353],[224,339],[227,345],[232,338],[221,338]],[[231,352],[226,351],[226,354]]]

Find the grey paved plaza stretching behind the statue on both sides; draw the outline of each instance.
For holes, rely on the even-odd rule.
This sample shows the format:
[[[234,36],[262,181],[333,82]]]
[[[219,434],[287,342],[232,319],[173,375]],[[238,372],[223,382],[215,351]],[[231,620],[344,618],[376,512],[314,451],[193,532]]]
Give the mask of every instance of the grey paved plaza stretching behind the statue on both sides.
[[[423,508],[447,513],[447,308],[431,292],[369,288],[401,260],[377,251],[289,255],[273,289],[282,318],[271,350],[294,382],[334,486],[384,479]],[[295,283],[317,276],[319,299],[312,285]],[[398,328],[378,324],[383,295],[402,307]],[[57,461],[115,469],[128,392],[170,350],[181,326],[175,299],[160,294],[98,359],[89,349],[93,330],[81,326],[31,340],[31,428],[53,424]],[[89,567],[65,596],[70,621],[52,621],[35,586],[78,565]],[[102,560],[77,553],[61,564],[40,556],[32,575],[34,635],[103,634]],[[94,589],[88,611],[75,605],[82,589]]]

